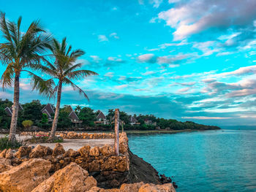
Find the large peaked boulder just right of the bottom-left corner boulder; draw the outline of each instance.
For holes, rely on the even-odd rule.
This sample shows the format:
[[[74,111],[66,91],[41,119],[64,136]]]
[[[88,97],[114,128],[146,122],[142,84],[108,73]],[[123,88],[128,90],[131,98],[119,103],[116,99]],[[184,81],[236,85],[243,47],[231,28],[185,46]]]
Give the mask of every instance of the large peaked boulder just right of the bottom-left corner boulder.
[[[78,166],[78,164],[71,163],[55,172],[48,180],[34,188],[31,192],[84,192],[89,191],[92,187],[97,185],[94,177],[89,176],[89,173]]]

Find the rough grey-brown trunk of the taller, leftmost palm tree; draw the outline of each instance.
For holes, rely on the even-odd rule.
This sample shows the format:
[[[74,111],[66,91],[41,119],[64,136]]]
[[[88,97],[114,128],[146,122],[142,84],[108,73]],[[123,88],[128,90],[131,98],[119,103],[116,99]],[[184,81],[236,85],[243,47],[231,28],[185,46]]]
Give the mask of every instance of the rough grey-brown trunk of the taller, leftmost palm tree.
[[[17,121],[18,121],[18,110],[19,110],[19,103],[20,103],[20,73],[15,74],[14,80],[14,95],[13,95],[13,105],[12,105],[12,120],[10,126],[10,134],[9,134],[9,141],[12,143],[15,142],[16,137],[16,128],[17,128]]]

